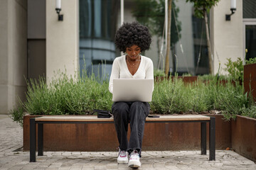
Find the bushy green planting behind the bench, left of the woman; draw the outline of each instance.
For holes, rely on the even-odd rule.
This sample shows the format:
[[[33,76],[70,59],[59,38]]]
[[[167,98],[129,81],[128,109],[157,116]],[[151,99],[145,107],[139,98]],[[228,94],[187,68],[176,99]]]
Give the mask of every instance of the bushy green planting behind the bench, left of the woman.
[[[108,82],[93,75],[73,78],[58,72],[50,84],[43,78],[31,79],[27,84],[26,101],[11,111],[15,121],[22,118],[21,108],[31,115],[73,115],[91,114],[94,109],[110,110],[112,106]]]

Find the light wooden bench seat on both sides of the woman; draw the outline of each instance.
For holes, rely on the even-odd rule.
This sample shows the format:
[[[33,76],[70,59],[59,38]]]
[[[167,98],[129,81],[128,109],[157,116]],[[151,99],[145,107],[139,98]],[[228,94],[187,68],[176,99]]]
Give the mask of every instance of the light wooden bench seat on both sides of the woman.
[[[66,121],[66,122],[112,122],[114,121],[113,117],[111,118],[97,118],[95,115],[48,115],[39,118],[35,118],[36,122],[40,121]],[[210,120],[210,117],[206,115],[160,115],[160,118],[146,118],[146,122],[154,121],[186,121],[186,120]]]

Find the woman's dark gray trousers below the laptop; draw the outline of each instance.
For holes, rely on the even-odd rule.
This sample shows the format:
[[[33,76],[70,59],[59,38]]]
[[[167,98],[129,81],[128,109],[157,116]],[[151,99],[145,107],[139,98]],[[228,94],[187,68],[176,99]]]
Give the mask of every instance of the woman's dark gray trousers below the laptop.
[[[115,102],[112,105],[114,127],[121,150],[126,150],[130,154],[134,149],[137,149],[141,155],[144,125],[149,110],[149,103],[141,101]],[[130,123],[131,128],[129,142],[127,140],[128,123]]]

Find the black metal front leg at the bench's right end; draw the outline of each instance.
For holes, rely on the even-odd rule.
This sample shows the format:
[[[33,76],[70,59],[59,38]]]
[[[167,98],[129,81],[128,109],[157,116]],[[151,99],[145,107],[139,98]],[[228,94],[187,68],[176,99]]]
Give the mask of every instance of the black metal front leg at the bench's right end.
[[[209,160],[215,160],[215,117],[210,117],[210,127],[209,127]]]

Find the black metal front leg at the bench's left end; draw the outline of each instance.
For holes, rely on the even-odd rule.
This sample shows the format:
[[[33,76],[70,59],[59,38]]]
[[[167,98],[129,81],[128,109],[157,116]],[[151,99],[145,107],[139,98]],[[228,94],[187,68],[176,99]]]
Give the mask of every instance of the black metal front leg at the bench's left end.
[[[36,123],[35,118],[30,119],[30,162],[36,162]]]

